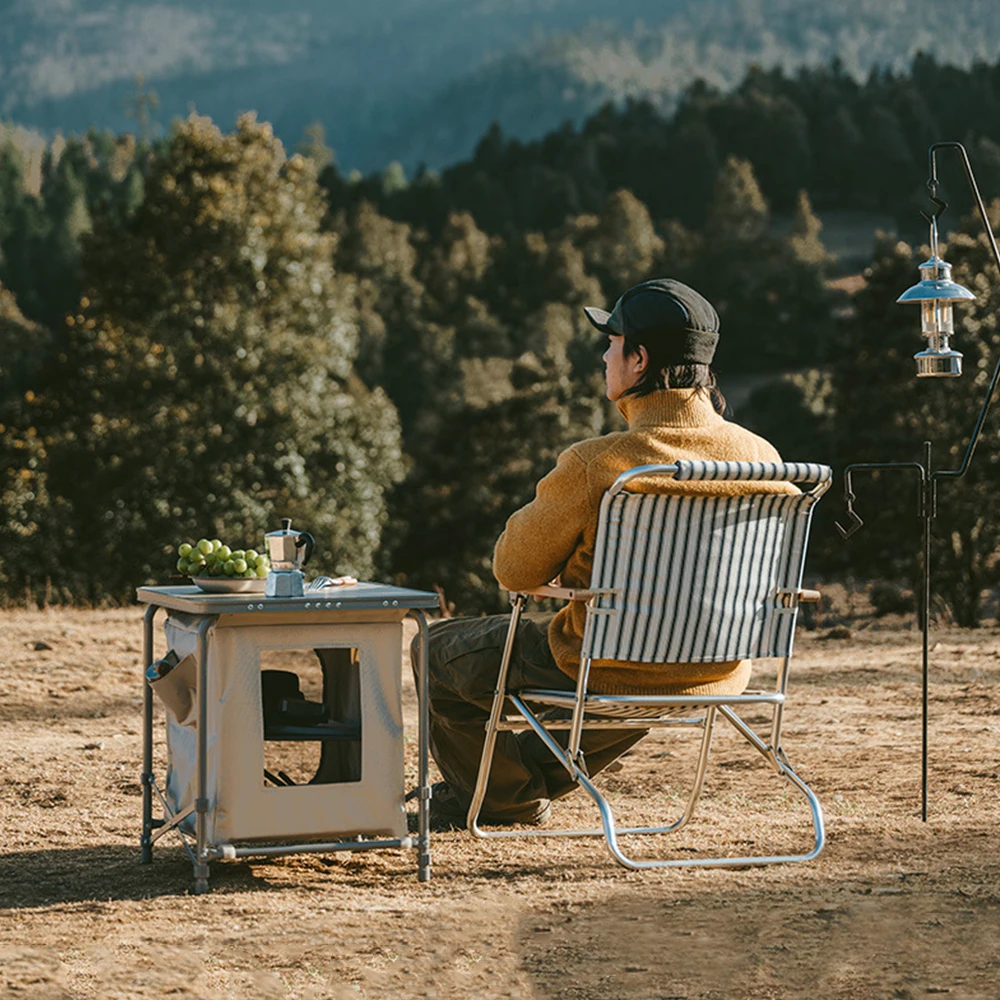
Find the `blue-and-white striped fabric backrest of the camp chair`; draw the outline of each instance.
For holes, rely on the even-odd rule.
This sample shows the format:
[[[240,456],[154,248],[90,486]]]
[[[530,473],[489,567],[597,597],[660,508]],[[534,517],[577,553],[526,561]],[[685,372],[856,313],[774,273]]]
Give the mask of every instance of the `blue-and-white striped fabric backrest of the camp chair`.
[[[597,660],[718,663],[790,656],[812,508],[826,466],[678,462],[678,480],[815,482],[809,493],[683,496],[609,490],[601,502],[588,641]],[[586,654],[587,648],[584,649]]]

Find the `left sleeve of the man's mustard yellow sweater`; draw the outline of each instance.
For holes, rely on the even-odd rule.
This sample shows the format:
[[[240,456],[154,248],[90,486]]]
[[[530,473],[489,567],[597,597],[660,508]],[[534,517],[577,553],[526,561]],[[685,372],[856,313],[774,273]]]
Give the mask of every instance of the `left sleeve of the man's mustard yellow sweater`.
[[[587,466],[572,448],[538,483],[535,498],[511,514],[493,550],[493,574],[507,590],[532,590],[558,576],[590,517]]]

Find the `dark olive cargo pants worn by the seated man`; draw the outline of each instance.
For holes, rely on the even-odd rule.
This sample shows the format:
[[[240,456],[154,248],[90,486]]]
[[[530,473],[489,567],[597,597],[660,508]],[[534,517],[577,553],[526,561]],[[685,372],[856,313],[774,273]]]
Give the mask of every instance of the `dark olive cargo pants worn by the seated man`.
[[[521,616],[507,675],[508,690],[575,689],[576,682],[556,666],[549,650],[551,620],[551,615]],[[476,787],[509,624],[509,615],[491,615],[446,618],[430,627],[431,753],[463,808],[471,802]],[[588,772],[597,774],[644,735],[645,731],[635,729],[585,730],[582,748]],[[564,731],[556,734],[563,745],[566,737]],[[482,818],[492,823],[532,822],[545,813],[549,800],[575,787],[576,782],[533,732],[502,732],[497,736]]]

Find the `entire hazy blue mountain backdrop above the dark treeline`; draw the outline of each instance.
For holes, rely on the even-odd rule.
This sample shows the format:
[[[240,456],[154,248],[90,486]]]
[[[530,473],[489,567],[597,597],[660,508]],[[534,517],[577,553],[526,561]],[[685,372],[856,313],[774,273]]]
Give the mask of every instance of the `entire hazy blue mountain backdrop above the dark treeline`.
[[[15,0],[0,21],[0,115],[46,132],[135,127],[135,76],[162,123],[256,109],[294,146],[321,122],[341,167],[466,157],[489,124],[524,139],[605,101],[670,110],[696,78],[839,58],[863,77],[918,51],[1000,50],[1000,4],[965,0]]]

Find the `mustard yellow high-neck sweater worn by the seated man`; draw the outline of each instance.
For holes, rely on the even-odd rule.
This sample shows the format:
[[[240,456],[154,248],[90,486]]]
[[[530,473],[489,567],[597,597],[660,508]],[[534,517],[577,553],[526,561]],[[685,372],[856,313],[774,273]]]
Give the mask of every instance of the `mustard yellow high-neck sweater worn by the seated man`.
[[[605,490],[636,465],[678,459],[778,462],[763,438],[715,412],[704,389],[662,389],[626,396],[618,408],[628,430],[571,445],[545,476],[535,498],[507,521],[493,552],[493,572],[508,590],[532,590],[555,577],[564,587],[586,587],[594,562],[597,514]],[[639,482],[634,489],[642,489]],[[672,493],[735,495],[796,492],[790,483],[661,482]],[[549,626],[549,646],[559,669],[575,678],[586,608],[572,601]],[[595,660],[589,687],[604,694],[738,694],[750,680],[751,662],[627,663]]]

